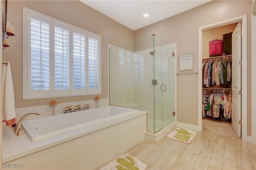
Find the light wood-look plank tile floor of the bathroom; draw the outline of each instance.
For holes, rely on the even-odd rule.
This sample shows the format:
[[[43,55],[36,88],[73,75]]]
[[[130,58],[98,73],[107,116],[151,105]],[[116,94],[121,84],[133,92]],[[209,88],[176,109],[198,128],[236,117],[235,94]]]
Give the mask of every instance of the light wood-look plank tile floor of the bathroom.
[[[149,170],[256,170],[256,146],[208,131],[198,132],[191,144],[144,140],[126,153],[150,164]]]

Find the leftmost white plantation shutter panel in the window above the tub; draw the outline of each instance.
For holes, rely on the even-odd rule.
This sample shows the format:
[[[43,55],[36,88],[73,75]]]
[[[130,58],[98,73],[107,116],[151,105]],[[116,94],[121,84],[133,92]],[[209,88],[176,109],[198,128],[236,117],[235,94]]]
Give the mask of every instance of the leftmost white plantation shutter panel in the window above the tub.
[[[51,20],[27,16],[27,96],[49,95],[50,90],[50,29]]]

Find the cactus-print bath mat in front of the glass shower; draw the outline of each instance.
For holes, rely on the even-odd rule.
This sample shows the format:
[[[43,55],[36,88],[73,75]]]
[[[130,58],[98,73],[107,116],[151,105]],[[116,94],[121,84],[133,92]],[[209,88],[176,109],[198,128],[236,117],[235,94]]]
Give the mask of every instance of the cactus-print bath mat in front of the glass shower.
[[[176,128],[171,133],[166,135],[166,138],[178,140],[179,142],[183,142],[186,144],[190,144],[194,137],[196,136],[196,132],[193,130],[185,129],[185,128]]]

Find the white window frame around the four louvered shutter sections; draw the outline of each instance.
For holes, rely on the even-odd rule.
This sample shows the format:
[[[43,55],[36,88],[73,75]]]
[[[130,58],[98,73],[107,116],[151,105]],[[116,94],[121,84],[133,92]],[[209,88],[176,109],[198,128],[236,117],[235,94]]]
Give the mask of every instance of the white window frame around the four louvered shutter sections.
[[[31,15],[31,16],[30,16]],[[31,69],[30,69],[30,21],[29,17],[36,16],[47,20],[50,24],[50,40],[49,40],[49,65],[50,65],[50,88],[49,90],[31,90]],[[46,22],[48,23],[48,22]],[[69,30],[69,89],[55,90],[54,83],[54,26],[64,26],[70,28]],[[64,29],[65,29],[64,28]],[[73,87],[73,33],[83,33],[85,36],[85,88],[74,89]],[[71,36],[72,35],[72,36]],[[88,82],[88,38],[95,37],[98,40],[98,88],[90,89]],[[28,68],[29,67],[29,68]],[[29,8],[23,7],[23,100],[40,99],[40,98],[54,98],[54,97],[69,97],[69,96],[86,96],[93,94],[101,94],[101,36],[94,34],[82,28],[62,22],[50,16],[46,16]]]

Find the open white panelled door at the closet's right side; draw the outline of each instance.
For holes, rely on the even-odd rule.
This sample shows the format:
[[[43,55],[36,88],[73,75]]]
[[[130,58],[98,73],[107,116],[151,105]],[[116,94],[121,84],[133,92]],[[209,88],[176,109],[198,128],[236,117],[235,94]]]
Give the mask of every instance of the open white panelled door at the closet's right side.
[[[241,138],[241,22],[232,34],[232,128]],[[239,124],[240,123],[240,124]]]

